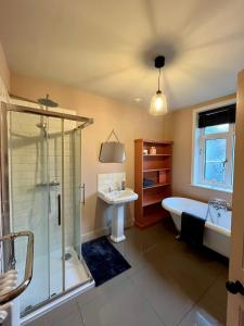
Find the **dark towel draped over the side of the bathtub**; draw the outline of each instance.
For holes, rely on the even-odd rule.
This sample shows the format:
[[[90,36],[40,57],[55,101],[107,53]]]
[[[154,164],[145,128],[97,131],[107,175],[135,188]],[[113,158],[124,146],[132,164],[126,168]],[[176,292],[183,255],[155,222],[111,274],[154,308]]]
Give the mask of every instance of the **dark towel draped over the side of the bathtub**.
[[[180,239],[194,247],[202,247],[205,222],[204,218],[182,212]]]

